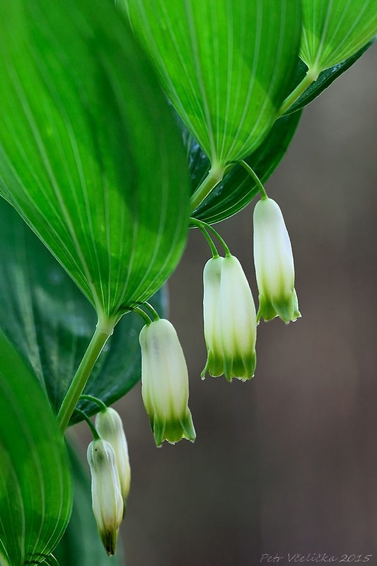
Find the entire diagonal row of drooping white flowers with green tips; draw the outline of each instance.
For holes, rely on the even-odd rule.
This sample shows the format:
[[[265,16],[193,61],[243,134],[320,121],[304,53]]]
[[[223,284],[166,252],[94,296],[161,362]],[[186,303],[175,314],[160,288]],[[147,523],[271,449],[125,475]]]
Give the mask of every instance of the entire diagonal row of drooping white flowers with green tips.
[[[207,364],[202,378],[225,375],[246,381],[255,373],[255,343],[260,318],[279,316],[285,323],[300,313],[294,289],[294,260],[282,212],[267,195],[254,212],[254,260],[259,291],[256,313],[253,295],[243,268],[224,241],[210,226],[198,221],[210,240],[213,257],[204,266],[204,338]],[[214,231],[226,250],[219,257],[207,229]],[[212,245],[213,244],[213,245]],[[189,387],[185,356],[173,325],[148,303],[152,321],[139,311],[146,325],[141,329],[141,395],[156,446],[182,438],[194,441],[195,428],[188,408]],[[115,553],[117,535],[124,516],[131,471],[122,420],[111,408],[95,418],[98,438],[88,447],[92,475],[93,512],[98,531],[109,555]]]

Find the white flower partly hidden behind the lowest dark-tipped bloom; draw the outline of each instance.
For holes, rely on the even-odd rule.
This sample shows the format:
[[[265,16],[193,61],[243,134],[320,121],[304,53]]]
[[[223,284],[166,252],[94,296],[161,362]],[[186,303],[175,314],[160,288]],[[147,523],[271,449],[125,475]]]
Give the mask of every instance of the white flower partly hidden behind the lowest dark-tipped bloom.
[[[127,499],[131,483],[131,468],[129,466],[128,446],[124,434],[122,419],[115,410],[107,408],[95,417],[95,428],[101,438],[108,441],[115,454],[115,464],[120,479],[120,490],[123,499]]]

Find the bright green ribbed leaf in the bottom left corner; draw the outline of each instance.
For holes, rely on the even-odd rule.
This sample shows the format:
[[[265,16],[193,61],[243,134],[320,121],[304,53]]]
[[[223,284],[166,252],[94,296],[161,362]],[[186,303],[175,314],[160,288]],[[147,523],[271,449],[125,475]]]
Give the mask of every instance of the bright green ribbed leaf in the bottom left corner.
[[[69,521],[69,462],[45,394],[3,333],[0,455],[0,563],[42,562]]]

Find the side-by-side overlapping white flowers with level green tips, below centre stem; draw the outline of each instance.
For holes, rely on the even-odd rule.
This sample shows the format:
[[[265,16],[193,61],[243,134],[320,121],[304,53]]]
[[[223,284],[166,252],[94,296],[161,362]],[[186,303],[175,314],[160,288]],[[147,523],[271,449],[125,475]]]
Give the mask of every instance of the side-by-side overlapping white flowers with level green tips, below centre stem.
[[[204,267],[204,337],[211,376],[245,381],[256,365],[257,318],[248,280],[233,255],[211,258]]]

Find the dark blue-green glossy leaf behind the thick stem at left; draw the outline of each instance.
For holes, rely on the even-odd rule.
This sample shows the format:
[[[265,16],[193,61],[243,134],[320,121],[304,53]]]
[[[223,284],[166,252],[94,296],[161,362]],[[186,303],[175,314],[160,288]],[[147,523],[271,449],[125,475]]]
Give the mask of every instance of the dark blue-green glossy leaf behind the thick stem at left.
[[[95,328],[93,306],[21,216],[0,199],[0,328],[33,370],[57,412]],[[163,313],[164,293],[153,305]],[[109,405],[140,379],[143,320],[117,323],[86,386]],[[97,405],[81,403],[91,414]],[[81,420],[74,415],[76,420]]]

